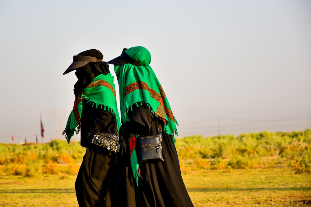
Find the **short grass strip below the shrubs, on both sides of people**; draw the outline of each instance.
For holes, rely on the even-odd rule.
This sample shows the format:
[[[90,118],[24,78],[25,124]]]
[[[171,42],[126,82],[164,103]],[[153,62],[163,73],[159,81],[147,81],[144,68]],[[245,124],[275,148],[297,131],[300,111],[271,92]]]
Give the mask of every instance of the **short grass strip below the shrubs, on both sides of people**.
[[[77,206],[76,175],[0,177],[0,206]],[[311,175],[290,169],[204,170],[183,174],[194,206],[311,206]]]

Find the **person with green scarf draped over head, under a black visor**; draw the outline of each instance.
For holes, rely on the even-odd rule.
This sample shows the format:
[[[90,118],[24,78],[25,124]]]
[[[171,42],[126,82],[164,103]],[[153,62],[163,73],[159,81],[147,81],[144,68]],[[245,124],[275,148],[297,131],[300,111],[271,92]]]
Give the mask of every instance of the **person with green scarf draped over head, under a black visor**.
[[[184,185],[174,145],[178,125],[164,90],[149,65],[145,47],[123,49],[107,63],[119,83],[122,140],[121,176],[112,206],[193,206]],[[139,134],[162,131],[164,161],[139,162]]]

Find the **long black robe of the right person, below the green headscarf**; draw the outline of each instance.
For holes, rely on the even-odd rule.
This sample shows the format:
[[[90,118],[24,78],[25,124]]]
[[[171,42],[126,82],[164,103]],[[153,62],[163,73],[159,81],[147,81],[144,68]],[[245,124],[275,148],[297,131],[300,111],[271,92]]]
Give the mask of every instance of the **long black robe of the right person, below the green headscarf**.
[[[164,162],[139,164],[141,176],[138,186],[133,178],[129,156],[129,133],[153,134],[163,122],[154,116],[147,106],[133,107],[130,121],[122,124],[122,169],[113,207],[192,207],[187,189],[180,172],[176,147],[170,135],[162,131],[162,154]],[[136,152],[138,148],[136,145]],[[139,156],[139,153],[138,153]]]

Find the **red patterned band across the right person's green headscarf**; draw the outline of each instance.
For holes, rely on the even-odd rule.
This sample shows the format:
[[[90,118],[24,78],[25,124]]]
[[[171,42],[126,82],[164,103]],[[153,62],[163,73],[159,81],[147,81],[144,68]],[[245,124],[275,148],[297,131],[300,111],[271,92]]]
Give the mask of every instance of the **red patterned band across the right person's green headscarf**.
[[[158,106],[158,108],[155,111],[156,115],[164,118],[165,114],[166,114],[166,116],[169,119],[171,119],[175,122],[172,110],[170,110],[169,108],[166,108],[163,105],[163,100],[165,99],[166,96],[165,96],[165,93],[164,93],[162,86],[159,87],[159,91],[160,91],[160,94],[159,94],[155,90],[152,90],[151,88],[149,88],[148,84],[145,82],[142,82],[142,81],[141,82],[134,82],[134,83],[129,84],[127,87],[125,87],[124,96],[128,95],[130,92],[133,92],[137,89],[144,89],[144,90],[148,91],[150,93],[150,96],[153,99],[160,102],[160,105]],[[163,119],[163,120],[165,122],[165,119]]]

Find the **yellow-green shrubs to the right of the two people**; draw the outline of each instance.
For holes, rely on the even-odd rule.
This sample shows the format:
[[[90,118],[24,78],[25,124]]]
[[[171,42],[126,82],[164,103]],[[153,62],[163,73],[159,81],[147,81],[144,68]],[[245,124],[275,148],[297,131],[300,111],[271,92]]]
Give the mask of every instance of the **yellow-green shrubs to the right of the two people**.
[[[297,173],[311,171],[310,129],[289,133],[244,133],[237,137],[188,136],[177,139],[176,148],[179,159],[206,159],[211,162],[212,169],[290,167]],[[191,166],[202,168],[202,163],[204,161],[191,162]],[[186,163],[186,166],[190,164]]]

